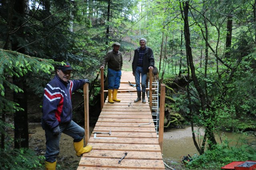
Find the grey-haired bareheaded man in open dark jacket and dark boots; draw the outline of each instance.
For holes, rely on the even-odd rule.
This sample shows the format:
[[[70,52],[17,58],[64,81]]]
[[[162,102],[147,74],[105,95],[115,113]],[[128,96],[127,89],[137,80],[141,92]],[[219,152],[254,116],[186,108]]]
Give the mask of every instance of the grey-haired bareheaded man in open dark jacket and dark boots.
[[[132,61],[132,74],[135,76],[136,90],[138,98],[134,102],[141,100],[142,91],[142,103],[146,103],[146,78],[149,69],[154,69],[154,54],[151,48],[146,46],[147,40],[140,39],[140,47],[134,51],[134,57]],[[141,88],[140,88],[140,76],[141,76]]]

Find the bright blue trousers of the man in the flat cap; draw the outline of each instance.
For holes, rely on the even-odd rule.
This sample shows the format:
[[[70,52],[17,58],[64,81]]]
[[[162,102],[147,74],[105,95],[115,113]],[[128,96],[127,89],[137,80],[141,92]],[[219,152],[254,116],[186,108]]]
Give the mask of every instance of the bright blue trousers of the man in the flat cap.
[[[120,87],[121,70],[112,70],[108,68],[108,89],[118,89]]]

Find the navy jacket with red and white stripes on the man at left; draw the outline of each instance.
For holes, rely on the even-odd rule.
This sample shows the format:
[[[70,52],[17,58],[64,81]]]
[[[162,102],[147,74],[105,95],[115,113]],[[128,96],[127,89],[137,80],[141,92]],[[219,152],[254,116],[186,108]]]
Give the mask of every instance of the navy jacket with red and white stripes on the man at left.
[[[71,94],[78,90],[85,80],[62,81],[57,75],[44,88],[42,119],[54,129],[60,123],[72,120]]]

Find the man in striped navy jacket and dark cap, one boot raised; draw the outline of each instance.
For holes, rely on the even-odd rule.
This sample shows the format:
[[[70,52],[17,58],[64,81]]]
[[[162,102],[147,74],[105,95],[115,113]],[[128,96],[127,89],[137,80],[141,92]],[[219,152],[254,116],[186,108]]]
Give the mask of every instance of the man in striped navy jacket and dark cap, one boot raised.
[[[47,170],[56,168],[61,133],[74,139],[77,156],[92,150],[90,145],[84,147],[84,129],[72,121],[71,104],[72,92],[89,83],[89,80],[69,80],[72,70],[69,63],[58,66],[56,76],[44,88],[41,124],[46,137],[45,168]]]

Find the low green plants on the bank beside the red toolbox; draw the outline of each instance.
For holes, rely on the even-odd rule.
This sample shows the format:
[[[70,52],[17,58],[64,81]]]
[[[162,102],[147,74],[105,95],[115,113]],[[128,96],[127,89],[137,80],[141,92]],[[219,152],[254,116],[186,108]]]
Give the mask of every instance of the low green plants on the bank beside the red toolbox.
[[[193,156],[193,160],[188,163],[187,168],[193,170],[217,170],[233,161],[246,161],[256,159],[256,149],[242,145],[241,147],[229,146],[225,140],[222,144],[215,146],[213,150],[206,150],[200,156]]]

